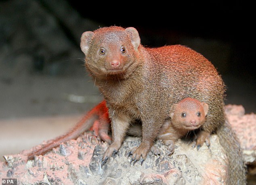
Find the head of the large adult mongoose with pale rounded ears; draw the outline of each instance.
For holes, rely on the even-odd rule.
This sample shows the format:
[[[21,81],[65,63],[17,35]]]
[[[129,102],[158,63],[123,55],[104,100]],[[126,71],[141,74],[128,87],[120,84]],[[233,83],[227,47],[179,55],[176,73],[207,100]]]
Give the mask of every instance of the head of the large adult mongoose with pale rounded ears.
[[[81,37],[81,50],[91,74],[97,78],[126,78],[137,66],[141,39],[133,27],[103,27],[86,31]]]

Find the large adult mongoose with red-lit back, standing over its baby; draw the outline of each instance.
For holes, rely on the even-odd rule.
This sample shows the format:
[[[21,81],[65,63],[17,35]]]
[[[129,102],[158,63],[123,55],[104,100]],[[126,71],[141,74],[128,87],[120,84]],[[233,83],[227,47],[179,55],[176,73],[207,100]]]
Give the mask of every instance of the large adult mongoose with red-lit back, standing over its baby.
[[[180,45],[145,48],[135,28],[115,26],[84,32],[80,46],[111,119],[112,143],[103,155],[103,164],[119,150],[130,123],[136,119],[142,123],[142,142],[132,153],[132,160],[144,160],[170,114],[170,104],[186,97],[209,106],[197,137],[198,146],[212,132],[229,128],[225,126],[224,83],[212,63],[194,50]],[[220,139],[229,148],[229,180],[244,184],[239,142],[233,134],[229,136],[228,141]],[[235,151],[232,154],[231,149]]]

